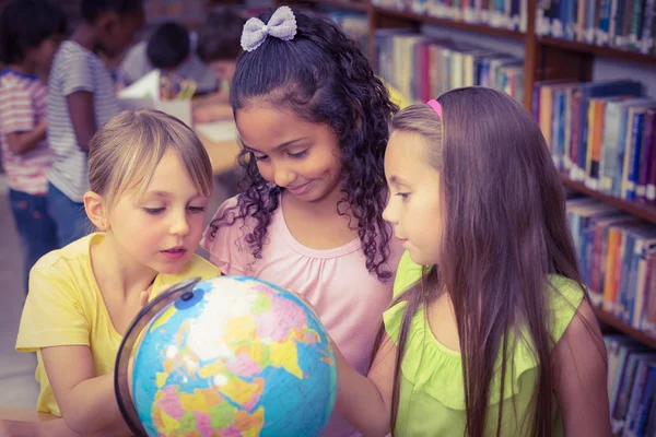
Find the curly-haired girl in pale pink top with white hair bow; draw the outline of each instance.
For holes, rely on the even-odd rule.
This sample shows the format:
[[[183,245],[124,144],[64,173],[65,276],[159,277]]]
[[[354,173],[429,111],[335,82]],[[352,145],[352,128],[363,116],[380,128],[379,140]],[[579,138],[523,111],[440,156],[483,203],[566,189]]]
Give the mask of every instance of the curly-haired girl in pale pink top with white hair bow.
[[[366,374],[401,252],[382,217],[397,108],[328,19],[281,7],[250,19],[242,43],[231,102],[244,191],[219,209],[201,246],[225,274],[304,296]],[[356,430],[336,411],[325,435]]]

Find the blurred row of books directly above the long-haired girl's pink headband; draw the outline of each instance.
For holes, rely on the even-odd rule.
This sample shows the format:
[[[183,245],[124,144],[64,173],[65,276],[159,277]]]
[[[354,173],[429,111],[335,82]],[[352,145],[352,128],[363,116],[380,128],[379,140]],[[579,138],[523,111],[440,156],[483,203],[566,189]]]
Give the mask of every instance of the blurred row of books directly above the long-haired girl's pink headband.
[[[411,31],[379,29],[375,37],[378,74],[413,102],[471,85],[494,87],[523,99],[519,58]]]

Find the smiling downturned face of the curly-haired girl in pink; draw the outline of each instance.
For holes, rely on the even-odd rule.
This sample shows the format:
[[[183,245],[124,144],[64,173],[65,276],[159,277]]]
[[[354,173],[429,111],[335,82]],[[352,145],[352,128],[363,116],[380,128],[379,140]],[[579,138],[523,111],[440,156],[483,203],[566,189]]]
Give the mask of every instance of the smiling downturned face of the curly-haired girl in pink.
[[[266,180],[306,202],[339,192],[341,153],[328,125],[258,103],[239,109],[235,120],[242,143]]]

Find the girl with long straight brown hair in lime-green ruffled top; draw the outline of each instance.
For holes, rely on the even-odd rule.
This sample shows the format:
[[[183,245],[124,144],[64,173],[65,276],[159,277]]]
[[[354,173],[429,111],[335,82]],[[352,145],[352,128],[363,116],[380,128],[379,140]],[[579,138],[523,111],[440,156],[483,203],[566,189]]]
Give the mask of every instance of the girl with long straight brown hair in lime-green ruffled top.
[[[336,350],[339,411],[367,436],[610,436],[606,349],[534,118],[468,87],[391,132],[384,217],[408,251],[368,378]]]

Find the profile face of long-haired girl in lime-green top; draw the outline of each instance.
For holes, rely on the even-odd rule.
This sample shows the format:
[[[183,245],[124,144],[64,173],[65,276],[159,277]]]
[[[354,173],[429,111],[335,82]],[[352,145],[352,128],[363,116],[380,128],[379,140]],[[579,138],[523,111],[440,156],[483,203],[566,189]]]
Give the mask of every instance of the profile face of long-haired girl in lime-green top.
[[[425,141],[413,132],[396,131],[385,152],[389,201],[383,212],[418,264],[440,259],[444,208],[440,173],[427,164]]]

